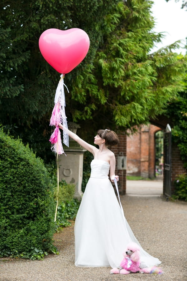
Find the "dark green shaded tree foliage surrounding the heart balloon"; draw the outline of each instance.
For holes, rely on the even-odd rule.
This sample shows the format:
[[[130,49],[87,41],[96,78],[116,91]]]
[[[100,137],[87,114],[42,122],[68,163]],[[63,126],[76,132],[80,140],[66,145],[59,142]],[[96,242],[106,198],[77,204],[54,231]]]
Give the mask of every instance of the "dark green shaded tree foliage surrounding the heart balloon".
[[[61,30],[82,28],[90,38],[89,52],[76,69],[67,75],[70,90],[75,76],[91,65],[103,35],[103,17],[117,0],[3,0],[0,4],[0,122],[29,142],[33,149],[45,153],[49,147],[49,119],[53,108],[55,88],[60,79],[41,56],[38,40],[48,28]],[[91,66],[89,66],[91,68]],[[77,103],[79,104],[79,103]],[[75,105],[77,107],[77,104]],[[66,107],[66,109],[68,108]],[[71,112],[66,110],[68,121]],[[46,144],[45,144],[46,143]]]

